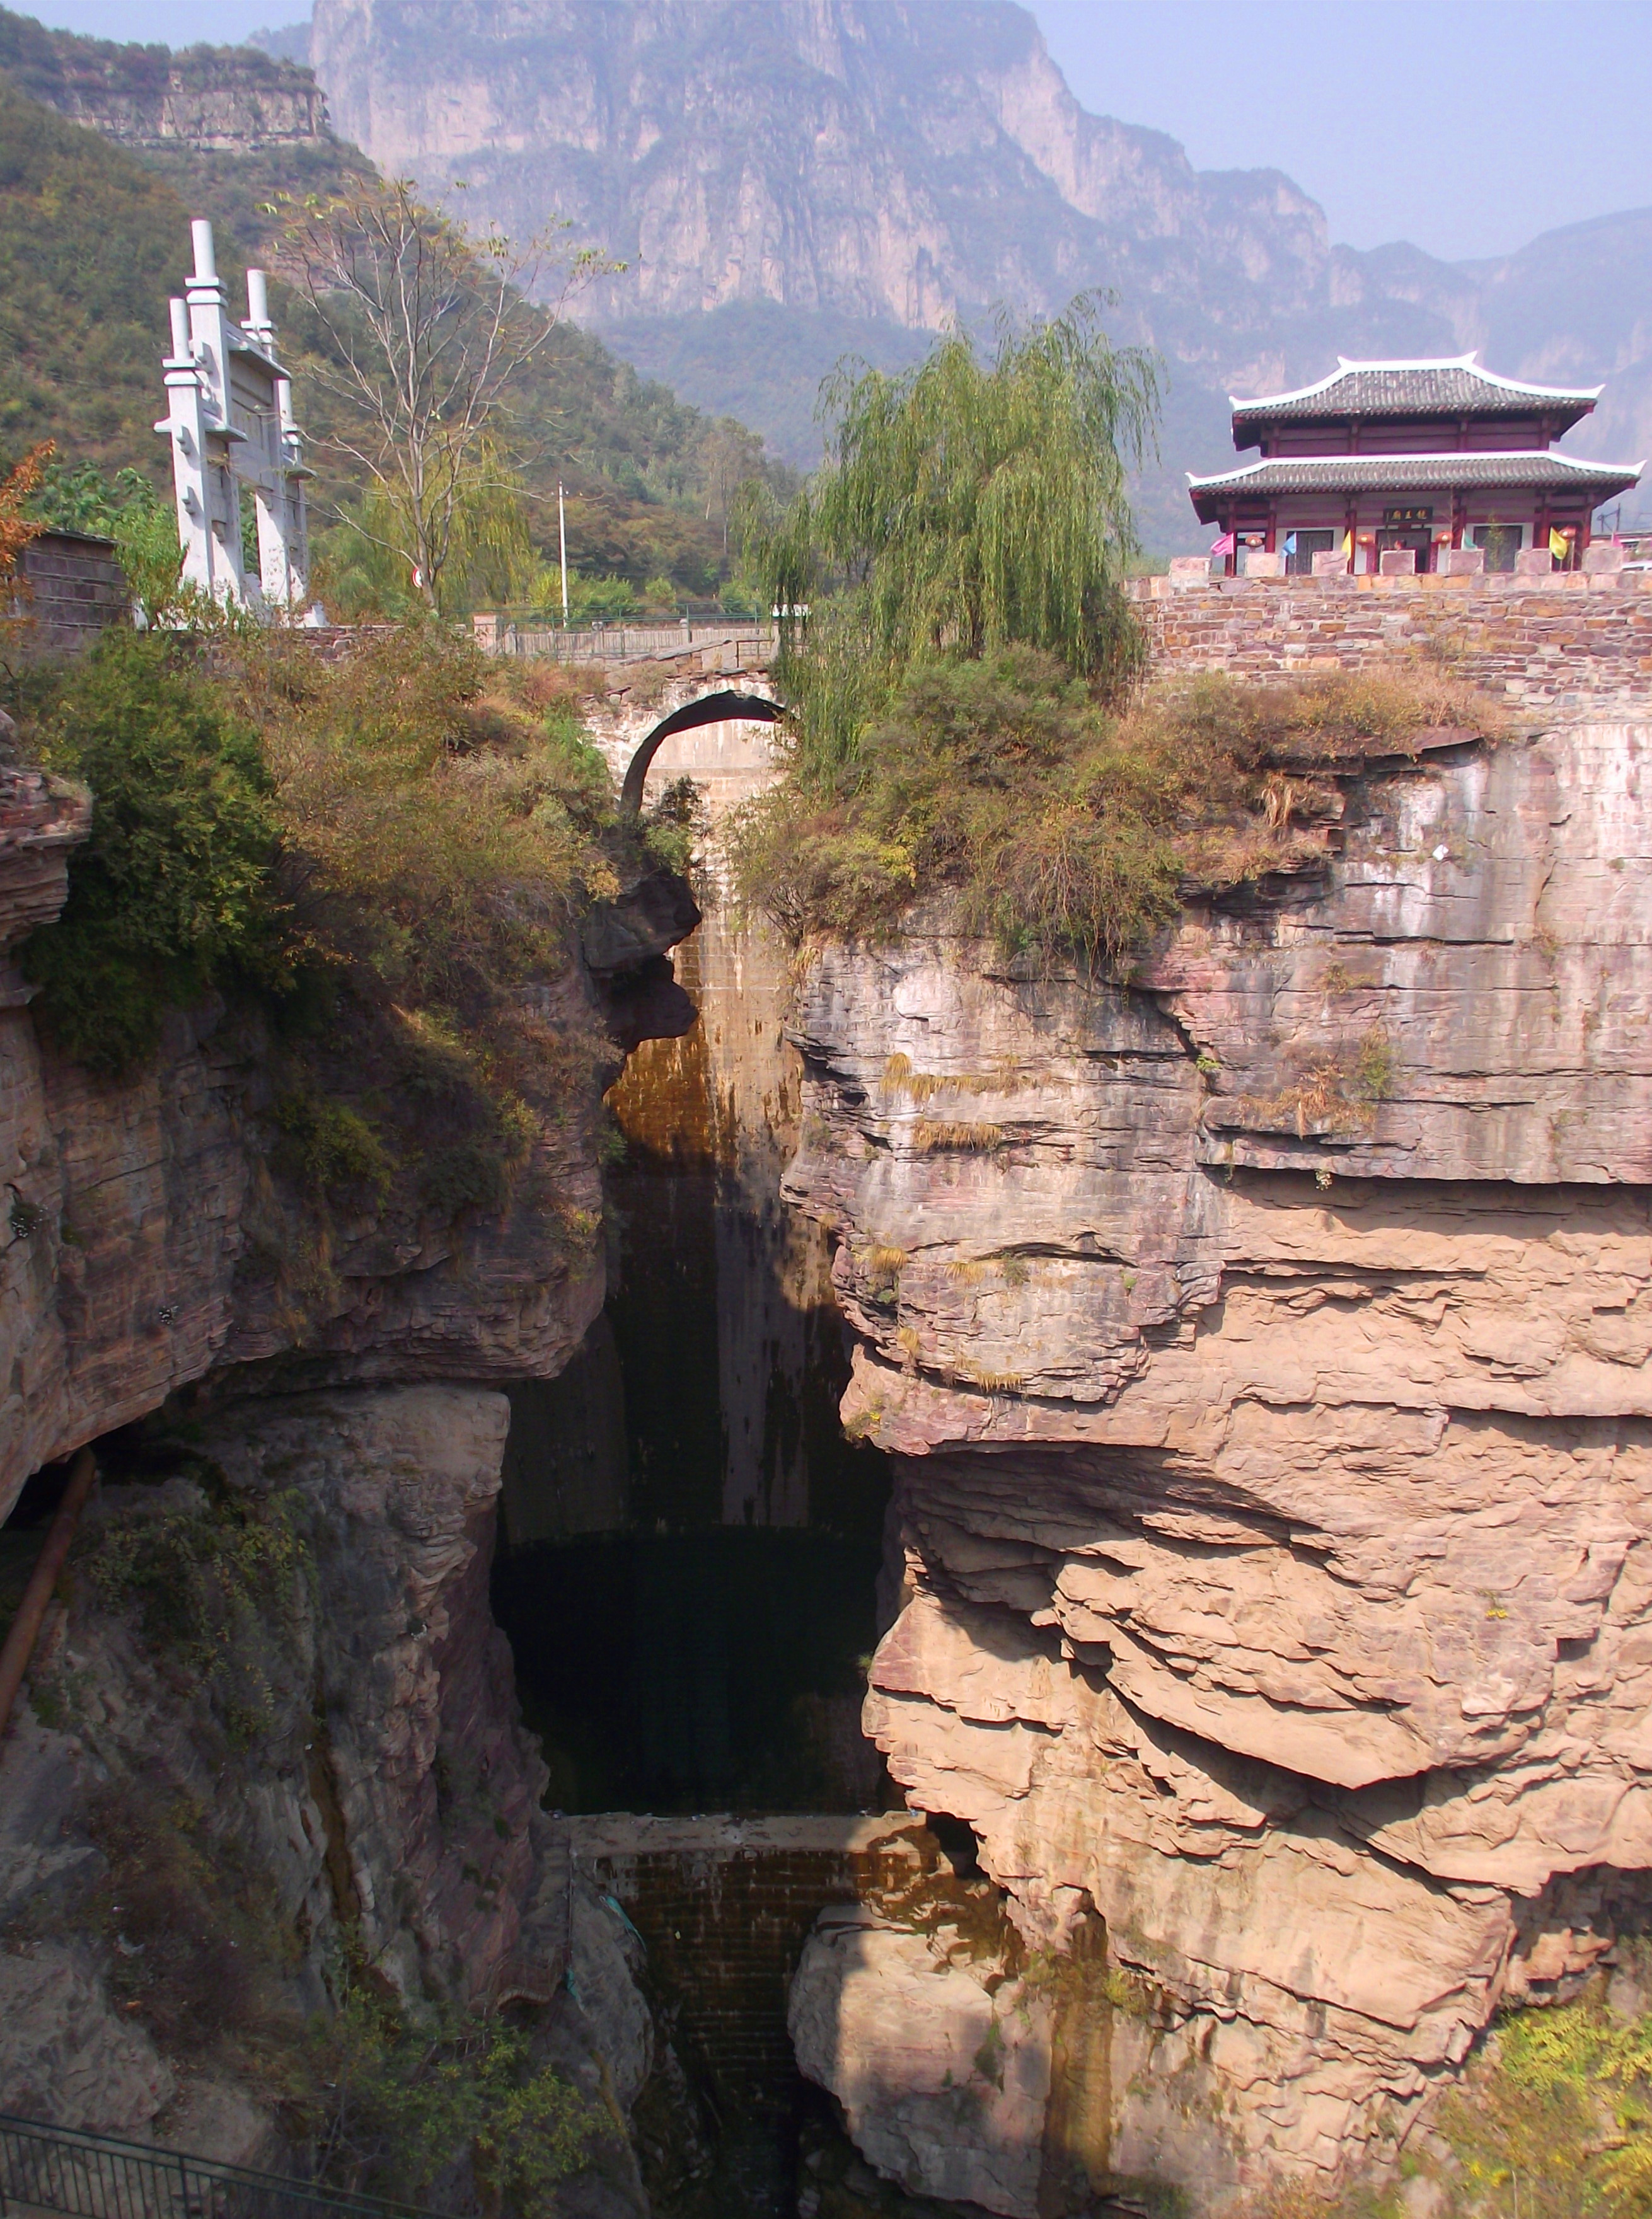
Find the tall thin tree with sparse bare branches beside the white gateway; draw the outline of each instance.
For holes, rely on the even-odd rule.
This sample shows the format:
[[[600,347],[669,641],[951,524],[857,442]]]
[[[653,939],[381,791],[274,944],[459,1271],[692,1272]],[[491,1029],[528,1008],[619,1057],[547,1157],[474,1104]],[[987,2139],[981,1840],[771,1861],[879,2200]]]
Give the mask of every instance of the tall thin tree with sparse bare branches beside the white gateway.
[[[564,224],[526,246],[471,231],[406,178],[278,213],[282,273],[320,326],[306,375],[338,417],[324,444],[369,484],[351,521],[435,608],[466,508],[486,493],[502,404],[568,297],[615,264],[573,249]]]

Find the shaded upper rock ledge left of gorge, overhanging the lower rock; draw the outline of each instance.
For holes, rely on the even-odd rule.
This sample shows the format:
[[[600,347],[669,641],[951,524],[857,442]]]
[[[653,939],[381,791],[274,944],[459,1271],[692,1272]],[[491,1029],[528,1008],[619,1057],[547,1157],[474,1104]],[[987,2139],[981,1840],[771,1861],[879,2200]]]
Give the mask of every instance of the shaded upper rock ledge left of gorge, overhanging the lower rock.
[[[167,1021],[160,1056],[104,1083],[53,1054],[16,950],[62,903],[87,801],[0,772],[0,1511],[40,1465],[246,1367],[306,1385],[517,1380],[562,1369],[602,1307],[602,1176],[584,1123],[624,1045],[693,1012],[662,956],[697,910],[644,879],[597,912],[593,961],[533,987],[586,1061],[580,1118],[544,1123],[504,1212],[435,1209],[415,1172],[318,1209],[273,1156],[280,1083],[264,1021],[218,996]],[[553,1198],[553,1207],[546,1205]]]

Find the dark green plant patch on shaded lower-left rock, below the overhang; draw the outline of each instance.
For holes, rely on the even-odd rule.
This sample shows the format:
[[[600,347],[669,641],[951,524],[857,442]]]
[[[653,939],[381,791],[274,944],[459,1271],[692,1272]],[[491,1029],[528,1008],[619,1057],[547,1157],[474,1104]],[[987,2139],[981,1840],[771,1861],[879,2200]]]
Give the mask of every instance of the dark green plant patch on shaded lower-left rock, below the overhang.
[[[109,1609],[133,1609],[149,1646],[204,1689],[231,1749],[275,1720],[266,1627],[293,1618],[309,1582],[304,1498],[222,1485],[104,1522],[87,1575]]]

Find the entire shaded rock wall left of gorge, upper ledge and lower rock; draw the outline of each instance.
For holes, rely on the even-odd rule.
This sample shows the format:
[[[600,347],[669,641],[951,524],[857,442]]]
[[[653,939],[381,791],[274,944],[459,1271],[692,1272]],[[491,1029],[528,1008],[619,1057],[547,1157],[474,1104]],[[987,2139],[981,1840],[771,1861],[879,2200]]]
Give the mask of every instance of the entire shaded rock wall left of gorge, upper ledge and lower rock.
[[[646,1005],[693,1014],[659,972],[697,910],[644,879],[526,987],[564,1065],[524,1078],[540,1132],[502,1205],[435,1207],[417,1165],[351,1203],[280,1156],[293,1074],[255,1010],[175,1012],[118,1083],[42,1041],[16,952],[87,821],[0,772],[0,1507],[167,1416],[100,1451],[0,1744],[0,2108],[275,2157],[271,2090],[315,2090],[304,2028],[349,1982],[515,1997],[595,2121],[568,2210],[637,2212],[635,1946],[540,1813],[488,1567],[497,1385],[555,1376],[602,1307],[597,1090]],[[351,1038],[340,1083],[371,1054]]]

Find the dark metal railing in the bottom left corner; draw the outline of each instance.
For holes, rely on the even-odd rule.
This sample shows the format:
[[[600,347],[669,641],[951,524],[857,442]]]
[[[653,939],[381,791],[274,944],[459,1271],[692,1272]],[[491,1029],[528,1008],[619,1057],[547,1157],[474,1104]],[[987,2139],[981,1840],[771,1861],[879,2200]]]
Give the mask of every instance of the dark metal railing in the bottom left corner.
[[[64,2212],[67,2219],[437,2219],[411,2203],[220,2166],[111,2135],[42,2126],[0,2112],[0,2215]]]

